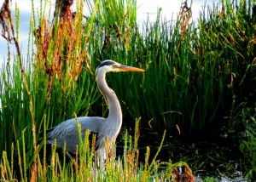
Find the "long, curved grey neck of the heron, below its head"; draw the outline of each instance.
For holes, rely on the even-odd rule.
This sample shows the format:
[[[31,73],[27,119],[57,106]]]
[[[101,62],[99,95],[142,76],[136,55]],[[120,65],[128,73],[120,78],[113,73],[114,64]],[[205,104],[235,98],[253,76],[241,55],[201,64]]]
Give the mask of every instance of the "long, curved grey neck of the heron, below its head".
[[[121,106],[116,94],[113,92],[113,89],[108,87],[106,82],[106,73],[103,72],[97,75],[96,82],[102,95],[105,95],[108,100],[108,121],[115,122],[115,124],[120,125],[122,122]]]

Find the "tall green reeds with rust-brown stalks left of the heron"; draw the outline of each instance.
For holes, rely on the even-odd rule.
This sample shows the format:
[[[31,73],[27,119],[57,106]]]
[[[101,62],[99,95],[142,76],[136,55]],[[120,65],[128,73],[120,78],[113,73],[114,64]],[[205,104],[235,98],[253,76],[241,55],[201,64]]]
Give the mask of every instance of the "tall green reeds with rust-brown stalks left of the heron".
[[[105,7],[104,9],[109,9],[112,6],[113,9],[123,9],[123,6],[127,5],[127,12],[130,13],[120,11],[122,16],[119,18],[119,14],[117,14],[116,17],[119,20],[125,19],[122,23],[125,26],[135,23],[134,12],[131,12],[131,9],[136,8],[134,1],[128,3],[121,1],[119,3],[96,2],[96,4],[100,3],[102,3],[102,7]],[[46,15],[47,2],[41,3],[38,15],[36,15],[33,5],[32,1],[29,36],[29,43],[31,43],[29,48],[32,49],[28,51],[28,55],[32,55],[32,57],[29,57],[28,64],[23,67],[21,65],[23,58],[19,54],[20,49],[17,48],[18,56],[15,57],[17,61],[14,61],[14,70],[9,74],[3,68],[1,80],[3,86],[1,90],[3,105],[1,134],[4,141],[0,152],[8,151],[8,154],[11,155],[10,144],[17,142],[18,147],[21,147],[21,143],[26,144],[22,150],[26,153],[26,157],[23,159],[26,164],[25,171],[31,168],[32,163],[38,161],[36,155],[40,149],[38,147],[44,143],[41,138],[43,126],[50,128],[73,117],[74,111],[79,116],[87,115],[91,105],[100,96],[96,91],[94,75],[97,64],[89,57],[90,46],[88,44],[93,45],[96,42],[97,37],[91,36],[91,34],[95,32],[96,16],[100,14],[100,11],[103,12],[103,8],[96,12],[97,7],[95,7],[89,19],[82,24],[84,17],[82,1],[77,3],[77,12],[74,18],[70,9],[58,2],[55,6],[54,21],[49,20],[51,17]],[[102,19],[104,25],[106,25],[107,18],[109,21],[115,20],[114,17],[107,17],[107,15],[105,14],[106,19]],[[128,17],[128,15],[129,19],[126,19],[125,16]],[[127,25],[125,22],[131,23]],[[107,23],[109,22],[107,21]],[[115,22],[115,24],[119,23]],[[18,27],[16,26],[17,32]],[[101,25],[101,27],[103,26]],[[110,30],[109,27],[108,29]],[[98,40],[96,43],[100,44]],[[91,57],[93,58],[93,56]],[[106,109],[104,109],[104,113],[106,113]],[[45,114],[48,116],[47,119],[44,119]],[[96,112],[90,111],[90,115],[96,115]],[[22,134],[24,134],[24,138],[21,137]],[[20,148],[17,150],[21,151]],[[16,152],[14,156],[18,157]]]

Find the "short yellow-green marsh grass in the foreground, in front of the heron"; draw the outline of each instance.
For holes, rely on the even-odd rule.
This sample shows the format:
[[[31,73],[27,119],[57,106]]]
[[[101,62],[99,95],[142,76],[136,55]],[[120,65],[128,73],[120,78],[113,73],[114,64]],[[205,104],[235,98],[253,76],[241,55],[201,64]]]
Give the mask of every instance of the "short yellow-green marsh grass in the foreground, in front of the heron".
[[[45,116],[44,119],[46,119]],[[44,128],[44,140],[46,139],[45,131]],[[22,136],[22,142],[25,142],[24,135]],[[16,179],[20,181],[27,181],[28,179],[31,181],[148,181],[154,179],[159,181],[176,179],[177,168],[181,167],[184,167],[186,170],[185,174],[183,174],[184,177],[189,179],[189,181],[194,179],[191,169],[185,162],[172,164],[172,162],[156,160],[163,145],[165,134],[160,143],[159,151],[154,154],[153,160],[148,160],[148,156],[151,155],[148,148],[143,164],[138,161],[137,140],[139,136],[139,120],[136,122],[134,136],[128,135],[127,131],[125,133],[123,156],[115,157],[114,146],[112,146],[110,155],[107,155],[106,160],[102,160],[101,157],[98,160],[95,151],[95,138],[90,142],[89,132],[85,133],[84,139],[81,138],[81,133],[79,133],[79,136],[79,153],[69,162],[66,161],[65,148],[62,152],[57,152],[56,146],[52,145],[51,151],[46,151],[46,144],[44,142],[44,154],[34,153],[34,157],[37,160],[32,163],[32,167],[29,170],[27,170],[25,162],[27,160],[25,153],[26,144],[22,143],[21,147],[19,145],[12,145],[12,151],[14,148],[18,149],[19,170],[14,168],[14,152],[8,158],[4,151],[0,165],[1,179],[7,181]],[[106,151],[108,150],[109,146],[106,146]]]

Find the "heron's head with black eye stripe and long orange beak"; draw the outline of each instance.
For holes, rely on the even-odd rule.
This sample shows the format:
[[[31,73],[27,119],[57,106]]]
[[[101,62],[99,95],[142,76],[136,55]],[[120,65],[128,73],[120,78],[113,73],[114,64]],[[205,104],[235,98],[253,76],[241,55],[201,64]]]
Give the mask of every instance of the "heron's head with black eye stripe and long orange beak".
[[[144,71],[143,69],[121,65],[113,60],[104,60],[96,69],[96,75],[100,72],[118,72],[118,71]]]

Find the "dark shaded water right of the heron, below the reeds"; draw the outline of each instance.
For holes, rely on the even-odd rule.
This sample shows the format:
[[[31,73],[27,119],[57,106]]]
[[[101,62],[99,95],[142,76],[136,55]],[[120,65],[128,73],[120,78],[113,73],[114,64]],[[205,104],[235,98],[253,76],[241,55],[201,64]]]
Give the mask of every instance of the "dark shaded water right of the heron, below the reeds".
[[[122,135],[125,134],[123,126],[117,140],[117,156],[123,155]],[[128,129],[131,136],[134,135],[133,128]],[[144,162],[146,147],[150,147],[150,159],[157,152],[162,135],[152,128],[140,128],[138,149],[139,160]],[[238,136],[236,136],[238,137]],[[172,134],[166,132],[165,141],[157,159],[162,162],[172,160],[175,162],[186,162],[195,175],[195,181],[205,178],[214,178],[218,181],[247,181],[244,177],[242,153],[236,137],[227,137],[222,131],[208,132],[207,134]],[[149,161],[150,162],[150,161]]]

